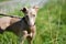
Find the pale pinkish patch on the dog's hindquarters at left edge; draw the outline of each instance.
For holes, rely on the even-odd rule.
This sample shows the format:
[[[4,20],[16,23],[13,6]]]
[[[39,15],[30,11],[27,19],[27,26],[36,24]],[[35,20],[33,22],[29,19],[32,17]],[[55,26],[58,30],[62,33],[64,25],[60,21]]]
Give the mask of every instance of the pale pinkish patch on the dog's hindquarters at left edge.
[[[10,16],[0,18],[0,29],[6,30],[10,25]]]

